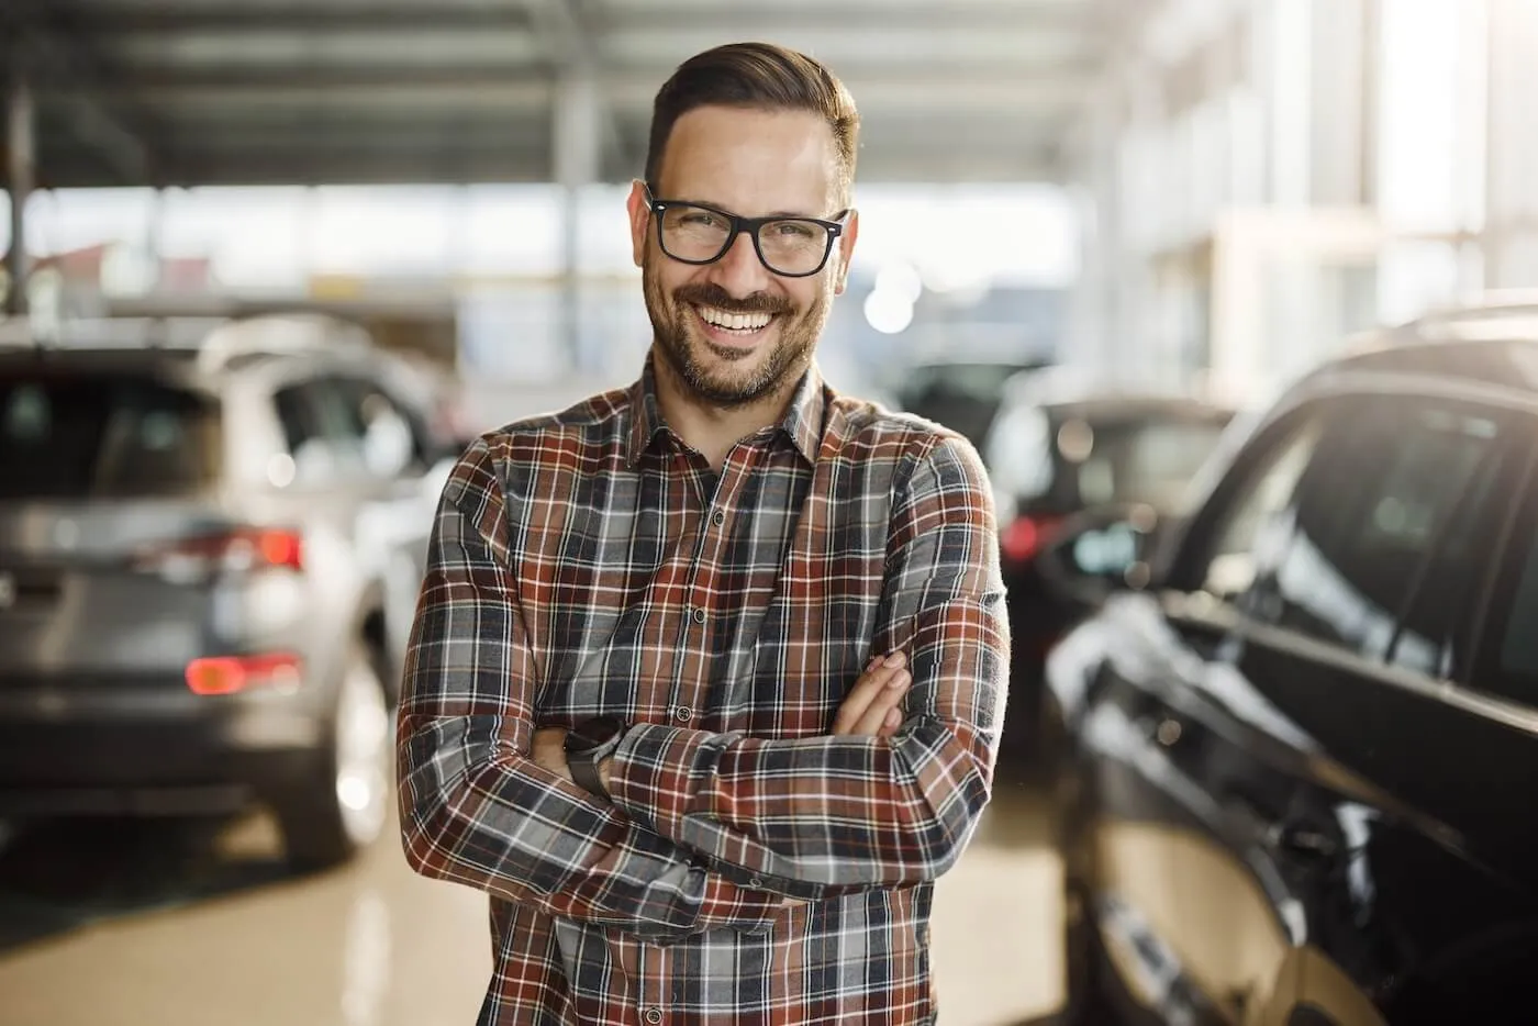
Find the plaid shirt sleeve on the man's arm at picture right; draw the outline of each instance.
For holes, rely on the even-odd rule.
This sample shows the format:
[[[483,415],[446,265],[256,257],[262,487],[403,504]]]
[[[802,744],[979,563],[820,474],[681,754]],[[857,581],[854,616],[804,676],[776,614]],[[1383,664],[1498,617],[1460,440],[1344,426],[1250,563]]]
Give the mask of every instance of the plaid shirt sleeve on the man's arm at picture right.
[[[1009,666],[992,495],[960,438],[937,440],[900,488],[880,618],[875,651],[907,652],[914,677],[895,737],[641,725],[615,755],[615,804],[797,897],[943,874],[992,792]]]

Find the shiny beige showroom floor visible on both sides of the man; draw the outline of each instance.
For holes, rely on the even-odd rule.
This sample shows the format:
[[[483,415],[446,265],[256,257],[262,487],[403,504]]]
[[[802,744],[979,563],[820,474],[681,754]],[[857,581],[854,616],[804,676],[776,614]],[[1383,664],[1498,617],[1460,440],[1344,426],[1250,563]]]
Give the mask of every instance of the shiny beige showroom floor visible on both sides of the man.
[[[937,888],[943,1026],[1055,1008],[1057,874],[1035,792],[1001,780]],[[392,837],[311,877],[263,817],[0,841],[0,1026],[469,1026],[489,971],[484,900],[412,875]]]

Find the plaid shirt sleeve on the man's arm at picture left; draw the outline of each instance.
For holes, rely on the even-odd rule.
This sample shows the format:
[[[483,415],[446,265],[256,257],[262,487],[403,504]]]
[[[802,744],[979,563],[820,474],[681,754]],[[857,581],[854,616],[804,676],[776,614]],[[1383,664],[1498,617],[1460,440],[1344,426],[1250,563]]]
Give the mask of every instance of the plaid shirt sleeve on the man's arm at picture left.
[[[397,732],[406,860],[647,940],[767,929],[778,895],[738,888],[529,758],[535,685],[504,492],[483,440],[444,486],[408,645]]]

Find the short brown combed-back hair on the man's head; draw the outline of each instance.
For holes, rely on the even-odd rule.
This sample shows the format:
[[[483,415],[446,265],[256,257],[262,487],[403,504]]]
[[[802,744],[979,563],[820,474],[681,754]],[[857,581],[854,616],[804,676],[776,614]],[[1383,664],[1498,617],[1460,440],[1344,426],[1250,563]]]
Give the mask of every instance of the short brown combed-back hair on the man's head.
[[[849,191],[860,148],[860,112],[844,83],[820,62],[774,43],[727,43],[678,65],[652,106],[646,180],[654,188],[674,125],[701,106],[820,114],[834,132],[841,185]]]

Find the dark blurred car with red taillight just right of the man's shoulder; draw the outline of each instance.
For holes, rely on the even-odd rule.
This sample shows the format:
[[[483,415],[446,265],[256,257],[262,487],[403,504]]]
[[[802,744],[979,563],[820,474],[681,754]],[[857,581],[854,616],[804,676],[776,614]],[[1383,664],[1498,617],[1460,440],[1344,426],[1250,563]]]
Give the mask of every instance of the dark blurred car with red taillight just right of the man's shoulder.
[[[1050,645],[1100,594],[1046,588],[1037,557],[1086,511],[1173,512],[1233,411],[1184,394],[1086,386],[1058,369],[1015,375],[983,445],[1010,625],[1004,749],[1030,758]]]

